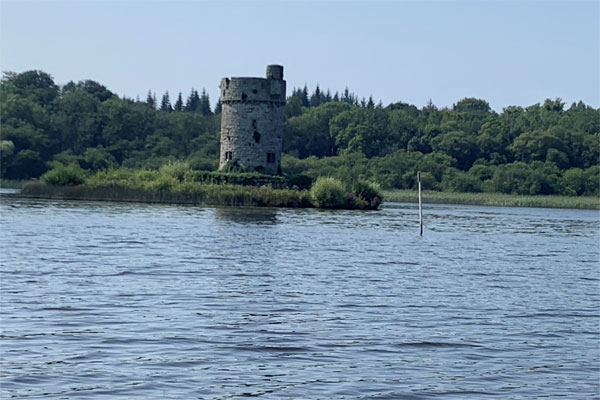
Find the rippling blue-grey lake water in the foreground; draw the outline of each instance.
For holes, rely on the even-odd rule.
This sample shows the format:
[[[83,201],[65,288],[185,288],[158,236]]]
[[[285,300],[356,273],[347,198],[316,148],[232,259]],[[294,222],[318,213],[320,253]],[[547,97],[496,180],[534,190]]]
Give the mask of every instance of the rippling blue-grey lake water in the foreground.
[[[597,211],[0,207],[2,398],[600,398]]]

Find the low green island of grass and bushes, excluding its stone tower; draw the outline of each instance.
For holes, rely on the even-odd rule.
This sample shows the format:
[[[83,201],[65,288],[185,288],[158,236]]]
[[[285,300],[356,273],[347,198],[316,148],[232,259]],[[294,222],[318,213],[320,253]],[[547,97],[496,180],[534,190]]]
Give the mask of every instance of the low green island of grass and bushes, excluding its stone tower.
[[[227,169],[233,169],[229,163]],[[159,170],[106,169],[89,174],[58,166],[40,181],[23,186],[22,196],[65,200],[206,204],[256,207],[318,207],[376,210],[383,201],[377,184],[344,185],[331,177],[314,183],[306,175],[272,176],[248,172],[194,171],[185,162]]]

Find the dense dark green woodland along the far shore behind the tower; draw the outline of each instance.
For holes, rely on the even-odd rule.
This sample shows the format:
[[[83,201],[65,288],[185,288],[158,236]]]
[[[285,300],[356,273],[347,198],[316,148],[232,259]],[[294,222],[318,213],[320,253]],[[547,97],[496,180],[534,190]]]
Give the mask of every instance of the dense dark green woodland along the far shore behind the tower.
[[[410,189],[416,171],[433,190],[600,194],[600,109],[547,99],[501,113],[485,100],[418,108],[372,98],[293,90],[285,106],[284,172]],[[158,169],[182,160],[214,170],[220,104],[205,90],[171,100],[121,98],[98,82],[58,86],[42,71],[0,82],[2,179],[76,164],[89,171]]]

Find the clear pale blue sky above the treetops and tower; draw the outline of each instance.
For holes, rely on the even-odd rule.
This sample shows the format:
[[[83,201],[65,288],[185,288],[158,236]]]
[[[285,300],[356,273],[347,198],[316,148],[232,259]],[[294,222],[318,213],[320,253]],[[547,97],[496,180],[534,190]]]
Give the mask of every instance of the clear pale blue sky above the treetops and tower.
[[[599,1],[1,0],[0,67],[117,94],[184,97],[282,64],[292,87],[346,86],[385,105],[478,97],[600,107]]]

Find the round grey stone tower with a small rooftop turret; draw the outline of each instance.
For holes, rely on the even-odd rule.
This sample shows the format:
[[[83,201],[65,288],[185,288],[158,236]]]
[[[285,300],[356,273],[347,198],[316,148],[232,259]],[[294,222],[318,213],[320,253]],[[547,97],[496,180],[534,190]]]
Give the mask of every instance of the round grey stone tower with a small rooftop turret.
[[[281,65],[266,78],[221,80],[219,168],[237,161],[249,172],[281,175],[285,81]]]

